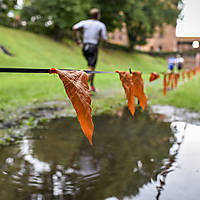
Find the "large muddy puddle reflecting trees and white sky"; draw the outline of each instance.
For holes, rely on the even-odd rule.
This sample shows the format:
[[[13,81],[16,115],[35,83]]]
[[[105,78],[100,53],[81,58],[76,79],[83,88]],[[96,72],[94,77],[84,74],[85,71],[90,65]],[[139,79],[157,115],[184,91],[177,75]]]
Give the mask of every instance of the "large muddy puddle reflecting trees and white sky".
[[[93,119],[93,147],[62,118],[2,148],[0,199],[199,199],[200,126],[127,109]]]

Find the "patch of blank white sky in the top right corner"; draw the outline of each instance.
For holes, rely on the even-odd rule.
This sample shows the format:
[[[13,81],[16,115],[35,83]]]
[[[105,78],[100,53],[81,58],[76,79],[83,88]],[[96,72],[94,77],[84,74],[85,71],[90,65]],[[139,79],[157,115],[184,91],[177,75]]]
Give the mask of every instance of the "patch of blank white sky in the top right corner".
[[[177,21],[178,37],[200,37],[200,0],[183,0],[183,20]]]

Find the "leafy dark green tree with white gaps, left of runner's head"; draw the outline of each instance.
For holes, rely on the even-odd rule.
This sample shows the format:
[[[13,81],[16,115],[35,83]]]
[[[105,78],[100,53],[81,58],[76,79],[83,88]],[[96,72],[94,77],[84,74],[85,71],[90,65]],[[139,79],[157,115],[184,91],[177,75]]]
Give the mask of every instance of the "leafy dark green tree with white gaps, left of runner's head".
[[[52,34],[58,39],[80,19],[80,7],[80,0],[32,0],[24,6],[21,19],[27,22],[28,29]]]

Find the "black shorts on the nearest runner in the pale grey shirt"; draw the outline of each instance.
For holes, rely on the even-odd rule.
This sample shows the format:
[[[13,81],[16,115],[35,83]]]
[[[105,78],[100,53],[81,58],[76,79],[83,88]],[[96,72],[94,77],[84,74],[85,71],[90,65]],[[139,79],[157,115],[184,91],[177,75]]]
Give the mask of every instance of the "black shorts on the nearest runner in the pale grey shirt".
[[[95,67],[97,63],[98,46],[96,44],[83,44],[83,55],[87,59],[88,66]]]

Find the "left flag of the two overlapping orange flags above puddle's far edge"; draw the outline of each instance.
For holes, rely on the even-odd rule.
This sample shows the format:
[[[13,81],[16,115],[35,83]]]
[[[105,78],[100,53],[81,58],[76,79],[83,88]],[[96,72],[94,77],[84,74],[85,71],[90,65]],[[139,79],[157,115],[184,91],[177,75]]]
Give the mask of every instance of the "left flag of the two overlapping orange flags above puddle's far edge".
[[[116,72],[119,74],[120,80],[122,82],[122,86],[126,94],[126,99],[128,100],[128,108],[131,114],[134,115],[135,101],[134,101],[134,96],[131,94],[131,87],[133,86],[131,75],[129,72],[119,72],[119,71],[116,71]]]

